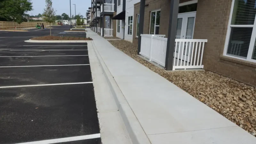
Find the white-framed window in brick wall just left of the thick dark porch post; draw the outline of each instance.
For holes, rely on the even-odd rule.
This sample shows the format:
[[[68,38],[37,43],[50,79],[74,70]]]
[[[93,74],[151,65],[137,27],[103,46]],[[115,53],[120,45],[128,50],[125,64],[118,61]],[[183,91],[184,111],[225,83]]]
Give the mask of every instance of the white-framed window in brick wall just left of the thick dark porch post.
[[[161,14],[160,10],[151,12],[150,29],[149,29],[149,34],[151,35],[159,34],[160,14]]]

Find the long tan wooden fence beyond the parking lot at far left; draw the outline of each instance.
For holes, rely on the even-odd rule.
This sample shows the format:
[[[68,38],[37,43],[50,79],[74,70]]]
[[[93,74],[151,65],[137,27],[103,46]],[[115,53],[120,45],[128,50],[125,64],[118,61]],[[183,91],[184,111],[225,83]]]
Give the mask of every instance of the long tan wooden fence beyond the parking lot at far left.
[[[0,21],[0,28],[6,29],[6,28],[28,28],[28,27],[36,27],[37,23],[44,23],[44,26],[49,25],[48,22],[22,22],[21,24],[18,24],[17,22],[13,21]]]

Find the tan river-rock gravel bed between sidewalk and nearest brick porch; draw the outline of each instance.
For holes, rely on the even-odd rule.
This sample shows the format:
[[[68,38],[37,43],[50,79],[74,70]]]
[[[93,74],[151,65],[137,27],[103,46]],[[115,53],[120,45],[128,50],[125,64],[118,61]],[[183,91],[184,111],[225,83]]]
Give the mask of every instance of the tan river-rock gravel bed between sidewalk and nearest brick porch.
[[[138,57],[136,44],[125,40],[109,40],[109,42],[247,132],[256,135],[255,87],[211,71],[167,72]]]

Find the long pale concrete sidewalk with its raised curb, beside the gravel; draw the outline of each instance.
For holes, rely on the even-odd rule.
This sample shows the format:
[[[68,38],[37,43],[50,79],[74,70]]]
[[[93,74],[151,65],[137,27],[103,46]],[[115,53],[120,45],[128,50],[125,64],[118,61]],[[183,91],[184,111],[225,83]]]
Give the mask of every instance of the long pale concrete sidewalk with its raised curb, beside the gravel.
[[[250,133],[87,30],[133,143],[256,143]]]

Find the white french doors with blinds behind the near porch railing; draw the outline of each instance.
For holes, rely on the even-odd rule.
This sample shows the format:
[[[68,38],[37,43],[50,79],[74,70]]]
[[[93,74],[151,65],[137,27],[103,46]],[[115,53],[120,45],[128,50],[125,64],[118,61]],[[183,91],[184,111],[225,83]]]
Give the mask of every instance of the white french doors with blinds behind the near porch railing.
[[[193,39],[195,20],[196,20],[196,12],[178,14],[176,39]],[[175,57],[178,58],[178,52],[179,52],[179,47],[180,47],[179,58],[181,58],[181,55],[183,55],[182,60],[190,62],[191,56],[188,57],[188,53],[189,53],[188,49],[189,49],[189,46],[192,47],[192,43],[184,43],[184,42],[180,42],[180,43],[177,42],[177,43],[178,44],[177,44],[177,51],[175,53]],[[187,44],[188,44],[187,52],[185,52]],[[182,48],[184,49],[183,53],[182,53]],[[190,50],[192,50],[192,49],[190,49]],[[185,54],[187,55],[186,60],[185,60]]]

